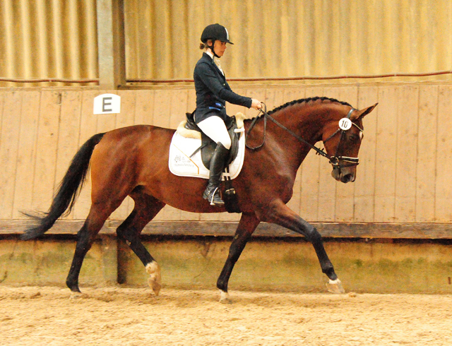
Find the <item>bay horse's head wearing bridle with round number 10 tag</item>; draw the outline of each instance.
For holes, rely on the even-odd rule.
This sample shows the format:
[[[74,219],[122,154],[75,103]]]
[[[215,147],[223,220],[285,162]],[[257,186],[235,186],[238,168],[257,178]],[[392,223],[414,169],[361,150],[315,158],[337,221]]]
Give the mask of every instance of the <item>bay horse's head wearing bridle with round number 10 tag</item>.
[[[362,118],[378,105],[354,109],[341,105],[337,114],[323,127],[323,145],[333,166],[331,175],[337,181],[355,181],[359,146],[363,138]]]

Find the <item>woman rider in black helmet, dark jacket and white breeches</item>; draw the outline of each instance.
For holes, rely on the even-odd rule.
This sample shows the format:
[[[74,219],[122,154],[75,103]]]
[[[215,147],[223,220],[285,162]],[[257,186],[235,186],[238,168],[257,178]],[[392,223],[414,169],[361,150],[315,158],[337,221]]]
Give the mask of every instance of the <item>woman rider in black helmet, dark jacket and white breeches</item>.
[[[201,35],[200,49],[205,49],[203,56],[196,63],[194,82],[196,90],[195,122],[209,136],[217,148],[210,160],[208,186],[203,193],[211,205],[224,205],[220,196],[220,181],[225,168],[225,160],[231,148],[231,139],[227,132],[225,103],[261,109],[261,102],[250,97],[234,93],[227,84],[225,73],[216,61],[225,54],[226,44],[230,43],[229,33],[220,24],[208,25]]]

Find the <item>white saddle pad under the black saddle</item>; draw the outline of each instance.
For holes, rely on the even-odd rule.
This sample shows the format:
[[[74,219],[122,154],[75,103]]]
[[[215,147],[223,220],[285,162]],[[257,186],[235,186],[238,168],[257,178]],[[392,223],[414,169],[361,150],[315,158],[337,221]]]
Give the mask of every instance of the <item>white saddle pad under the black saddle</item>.
[[[186,138],[178,132],[174,133],[174,136],[172,136],[171,145],[169,145],[169,171],[179,177],[208,179],[209,170],[203,165],[203,160],[201,159],[201,150],[190,157],[200,146],[201,139]],[[242,132],[240,133],[239,150],[237,157],[229,165],[229,173],[223,172],[223,180],[225,180],[225,176],[230,176],[231,179],[234,179],[239,175],[240,170],[243,166],[244,156],[245,136]]]

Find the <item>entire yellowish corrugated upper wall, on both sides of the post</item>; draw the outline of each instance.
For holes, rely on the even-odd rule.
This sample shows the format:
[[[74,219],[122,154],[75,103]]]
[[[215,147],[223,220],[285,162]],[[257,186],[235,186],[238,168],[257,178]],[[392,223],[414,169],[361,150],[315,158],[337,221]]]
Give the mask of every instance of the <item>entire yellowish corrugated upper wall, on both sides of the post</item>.
[[[191,78],[215,22],[235,43],[222,59],[229,78],[452,66],[450,0],[124,0],[124,10],[128,79]],[[2,0],[0,37],[0,77],[98,77],[96,0]]]

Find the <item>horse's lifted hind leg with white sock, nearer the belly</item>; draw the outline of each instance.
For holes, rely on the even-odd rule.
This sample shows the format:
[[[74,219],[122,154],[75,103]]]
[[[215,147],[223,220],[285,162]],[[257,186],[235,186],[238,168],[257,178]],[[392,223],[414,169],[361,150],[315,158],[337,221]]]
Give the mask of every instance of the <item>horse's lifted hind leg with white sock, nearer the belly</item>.
[[[135,208],[126,220],[118,227],[117,234],[119,239],[126,242],[132,251],[140,258],[146,268],[146,272],[150,275],[148,283],[155,295],[158,295],[162,287],[162,279],[160,275],[160,266],[155,259],[150,256],[148,250],[141,242],[140,234],[145,225],[153,220],[155,215],[165,206],[153,196],[145,193],[132,193],[131,197],[135,201]]]

